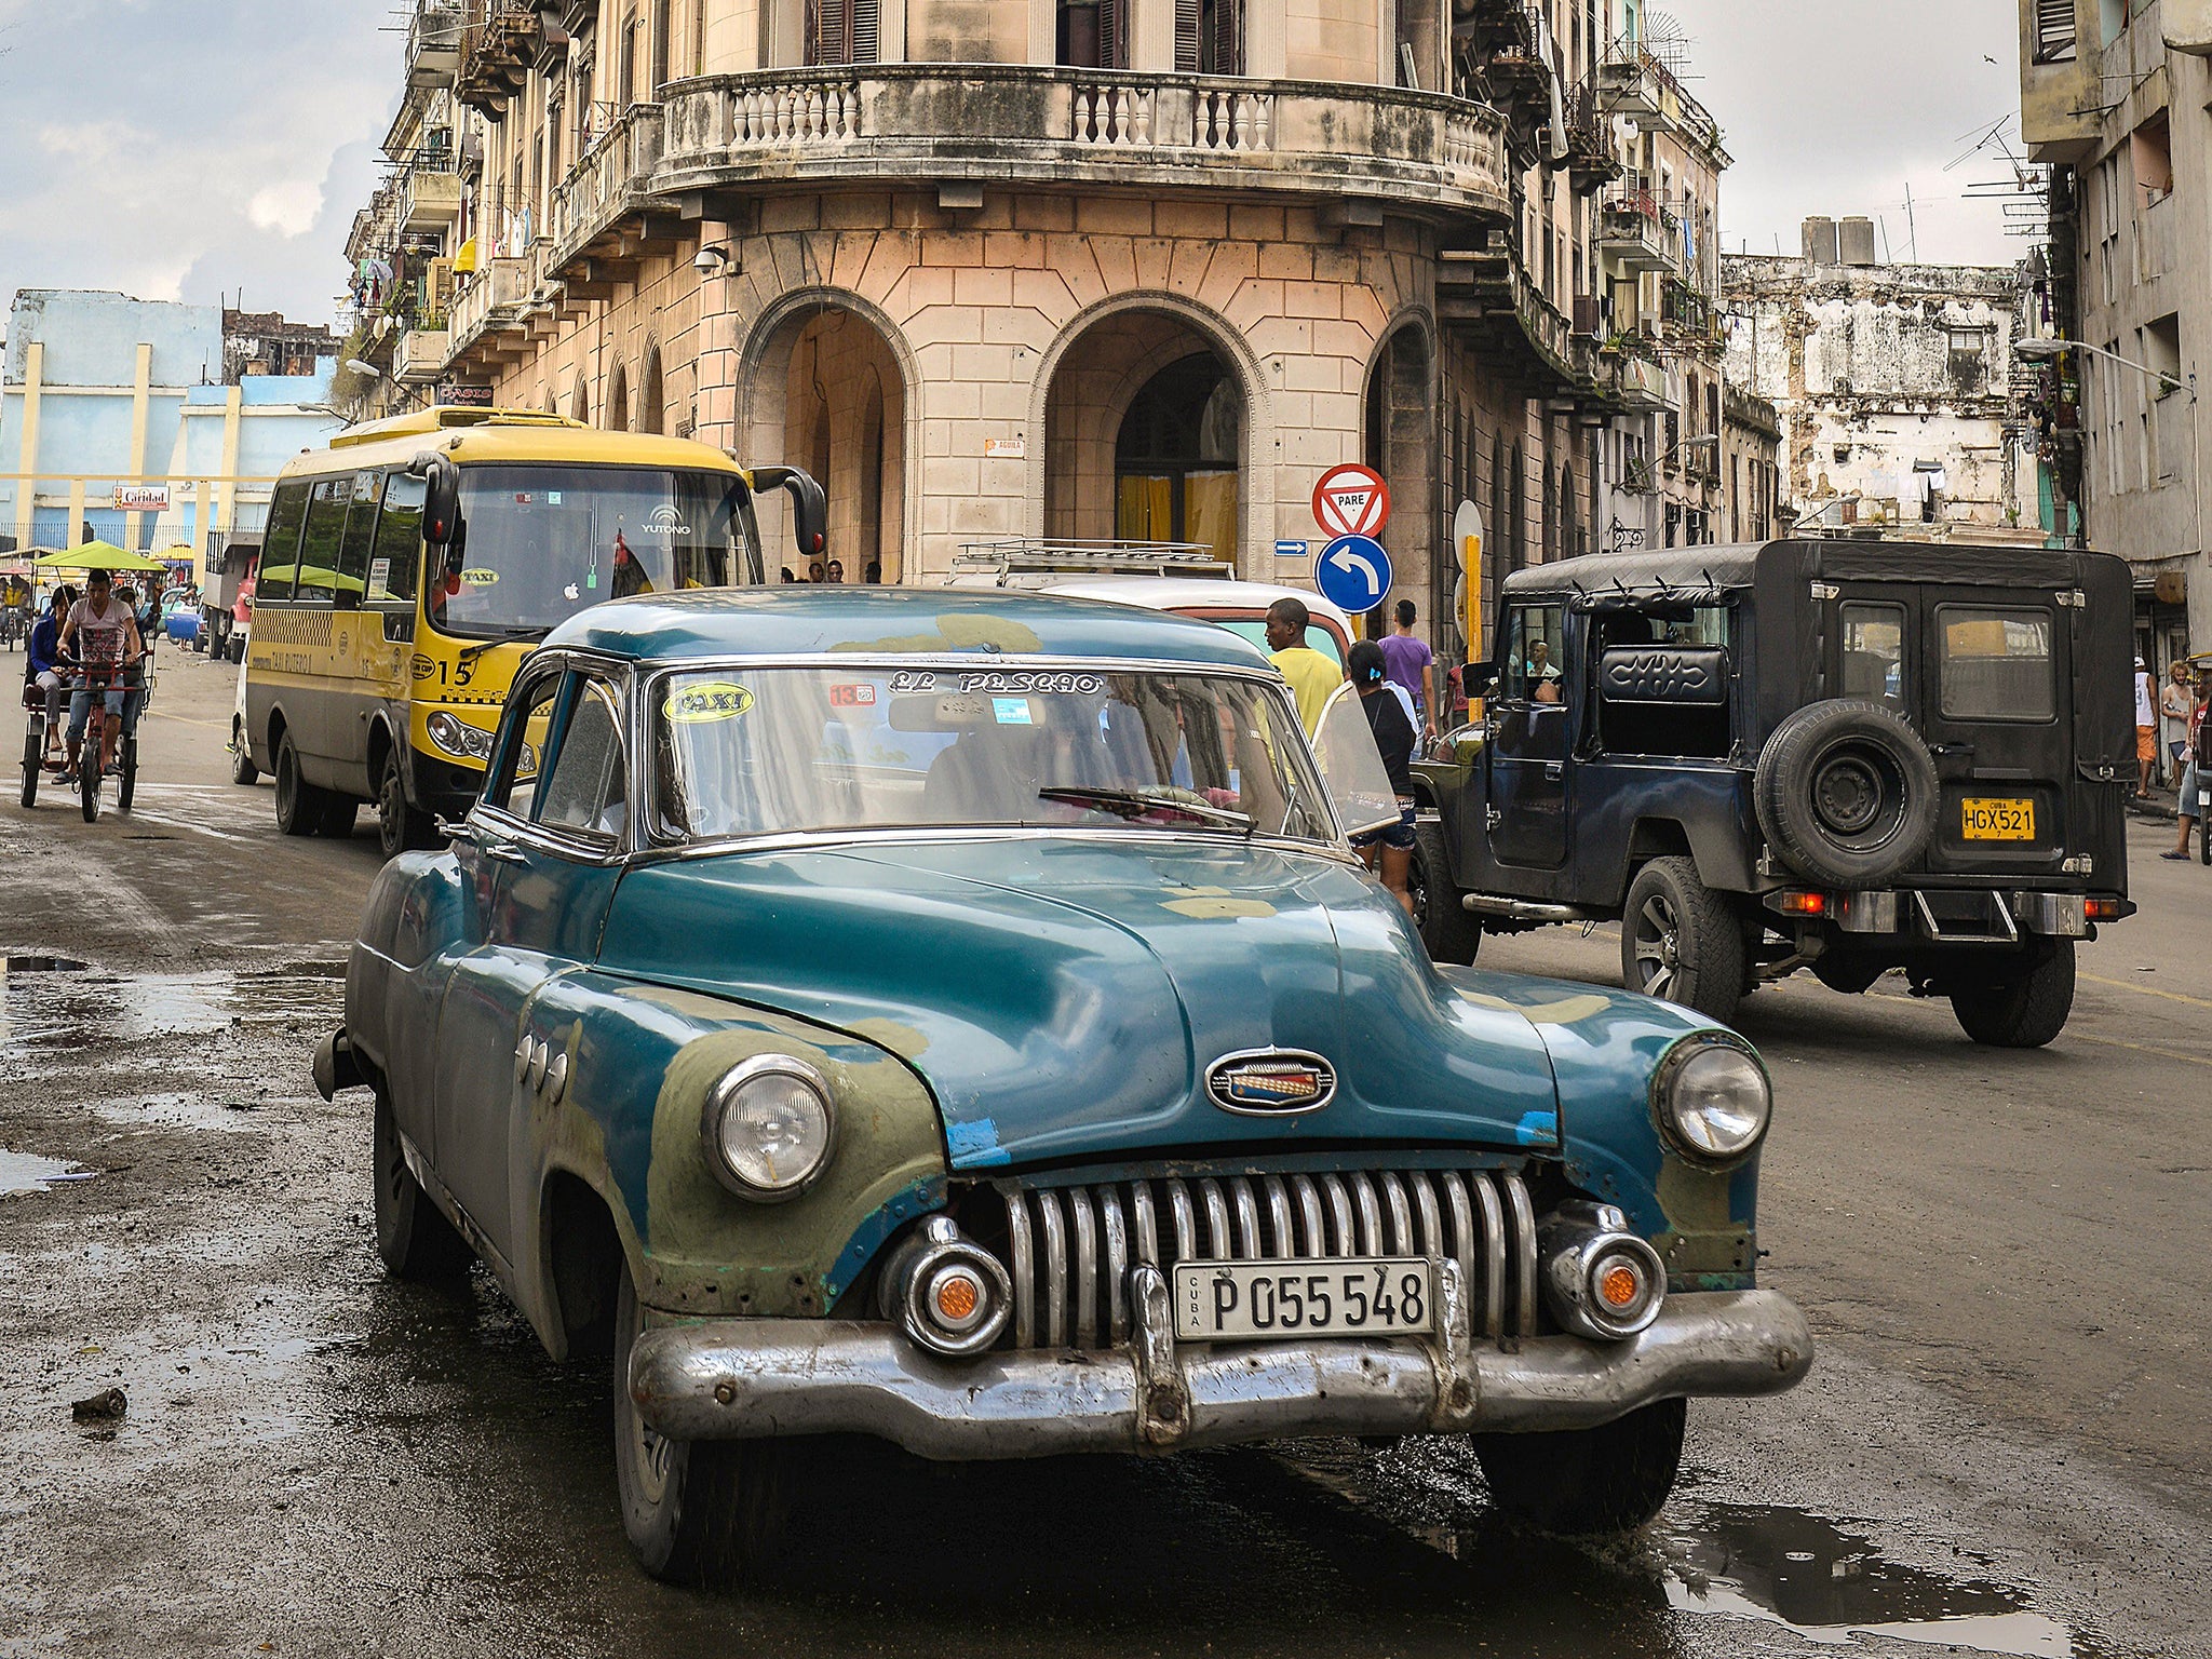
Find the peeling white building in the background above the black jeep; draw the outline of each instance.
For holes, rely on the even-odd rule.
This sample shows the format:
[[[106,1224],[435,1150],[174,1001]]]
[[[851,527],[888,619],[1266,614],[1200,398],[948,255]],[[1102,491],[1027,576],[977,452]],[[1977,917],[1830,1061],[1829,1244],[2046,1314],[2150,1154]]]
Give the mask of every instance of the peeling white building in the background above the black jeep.
[[[2044,540],[2013,405],[2013,268],[1889,265],[1871,223],[1812,219],[1803,257],[1730,254],[1723,305],[1730,380],[1781,416],[1798,524]]]

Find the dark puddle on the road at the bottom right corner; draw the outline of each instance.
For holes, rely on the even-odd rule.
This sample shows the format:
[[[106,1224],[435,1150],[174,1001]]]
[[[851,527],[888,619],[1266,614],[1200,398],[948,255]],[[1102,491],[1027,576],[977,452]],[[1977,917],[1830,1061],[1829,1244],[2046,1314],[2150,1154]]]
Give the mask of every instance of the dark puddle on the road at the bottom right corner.
[[[2026,1590],[1882,1559],[1867,1537],[1809,1511],[1710,1504],[1690,1515],[1692,1524],[1661,1522],[1655,1535],[1668,1604],[1681,1613],[1781,1624],[1838,1648],[1867,1635],[2022,1659],[2097,1652],[2035,1613]]]

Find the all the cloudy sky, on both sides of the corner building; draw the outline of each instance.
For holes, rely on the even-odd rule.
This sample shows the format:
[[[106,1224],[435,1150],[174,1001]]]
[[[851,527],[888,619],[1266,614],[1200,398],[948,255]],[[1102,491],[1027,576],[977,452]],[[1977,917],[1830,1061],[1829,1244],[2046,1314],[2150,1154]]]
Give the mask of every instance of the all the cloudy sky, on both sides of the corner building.
[[[2011,261],[1993,150],[2017,111],[2013,0],[1663,0],[1736,157],[1728,246],[1863,212],[1907,252]],[[398,102],[394,0],[0,0],[0,301],[119,288],[327,319]],[[1995,62],[1989,62],[1995,60]],[[2017,122],[2008,128],[2017,133]]]

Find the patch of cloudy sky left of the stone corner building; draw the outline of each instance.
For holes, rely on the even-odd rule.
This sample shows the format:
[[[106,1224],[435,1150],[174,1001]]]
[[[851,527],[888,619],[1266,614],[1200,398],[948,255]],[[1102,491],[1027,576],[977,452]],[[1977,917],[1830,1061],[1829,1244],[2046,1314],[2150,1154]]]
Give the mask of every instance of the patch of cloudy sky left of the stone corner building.
[[[327,321],[398,106],[394,0],[0,0],[0,303]]]

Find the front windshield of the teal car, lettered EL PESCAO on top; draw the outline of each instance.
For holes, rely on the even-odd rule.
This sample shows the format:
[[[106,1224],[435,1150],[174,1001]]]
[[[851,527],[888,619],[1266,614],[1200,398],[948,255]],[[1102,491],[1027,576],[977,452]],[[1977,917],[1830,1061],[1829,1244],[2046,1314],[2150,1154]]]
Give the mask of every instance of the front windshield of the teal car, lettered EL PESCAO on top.
[[[1130,827],[1336,841],[1279,686],[1135,668],[730,668],[650,692],[675,838]]]

